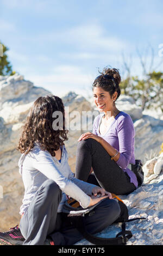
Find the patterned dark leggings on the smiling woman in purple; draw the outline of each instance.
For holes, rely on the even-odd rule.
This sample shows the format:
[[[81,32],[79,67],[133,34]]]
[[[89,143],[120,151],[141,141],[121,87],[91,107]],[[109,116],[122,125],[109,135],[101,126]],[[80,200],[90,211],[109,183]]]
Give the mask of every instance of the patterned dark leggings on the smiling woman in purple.
[[[89,175],[91,167],[93,175]],[[92,138],[78,143],[75,176],[117,195],[129,194],[136,189],[128,174],[123,172],[118,164],[111,160],[102,145]]]

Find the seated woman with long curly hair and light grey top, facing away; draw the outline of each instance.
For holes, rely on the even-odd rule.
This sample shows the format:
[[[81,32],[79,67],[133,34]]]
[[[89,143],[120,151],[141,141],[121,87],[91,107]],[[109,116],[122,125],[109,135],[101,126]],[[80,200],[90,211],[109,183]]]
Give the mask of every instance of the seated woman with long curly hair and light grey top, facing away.
[[[60,120],[56,113],[61,114]],[[120,215],[120,206],[109,192],[74,178],[68,165],[66,140],[62,100],[54,95],[39,97],[30,109],[18,143],[22,154],[18,166],[25,188],[20,208],[23,245],[72,245],[83,239],[62,212],[66,195],[76,199],[84,209],[100,202],[95,214],[85,216],[87,230],[92,234]],[[1,233],[0,240],[18,244],[16,240],[21,235],[15,234],[18,234],[16,229]]]

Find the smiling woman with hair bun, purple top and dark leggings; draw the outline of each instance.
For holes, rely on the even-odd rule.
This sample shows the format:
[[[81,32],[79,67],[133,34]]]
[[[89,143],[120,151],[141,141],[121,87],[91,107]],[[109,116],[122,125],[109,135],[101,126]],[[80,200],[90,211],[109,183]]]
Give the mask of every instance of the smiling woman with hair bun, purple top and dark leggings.
[[[98,184],[115,194],[136,190],[136,175],[128,168],[135,164],[135,130],[130,115],[119,111],[116,100],[121,94],[117,69],[105,68],[92,85],[99,114],[93,130],[78,139],[76,178]],[[90,174],[94,172],[94,174]]]

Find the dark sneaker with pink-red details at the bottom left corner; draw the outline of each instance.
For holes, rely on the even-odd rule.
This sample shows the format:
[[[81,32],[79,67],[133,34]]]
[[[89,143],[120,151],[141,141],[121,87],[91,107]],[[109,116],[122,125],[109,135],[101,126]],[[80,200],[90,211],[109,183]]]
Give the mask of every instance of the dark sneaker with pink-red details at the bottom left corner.
[[[0,232],[0,243],[2,245],[22,245],[24,240],[18,225],[10,228],[7,232]]]

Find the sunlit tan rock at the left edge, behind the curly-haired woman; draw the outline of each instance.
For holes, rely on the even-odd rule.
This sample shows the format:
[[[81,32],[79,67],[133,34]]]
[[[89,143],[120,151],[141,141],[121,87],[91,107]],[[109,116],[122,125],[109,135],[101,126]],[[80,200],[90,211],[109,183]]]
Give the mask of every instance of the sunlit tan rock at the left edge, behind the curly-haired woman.
[[[24,120],[30,106],[39,96],[50,94],[47,90],[35,87],[23,76],[0,76],[0,186],[3,198],[0,199],[0,228],[7,230],[19,223],[19,209],[24,187],[18,173],[20,153],[16,150]],[[1,197],[0,197],[1,198]]]

